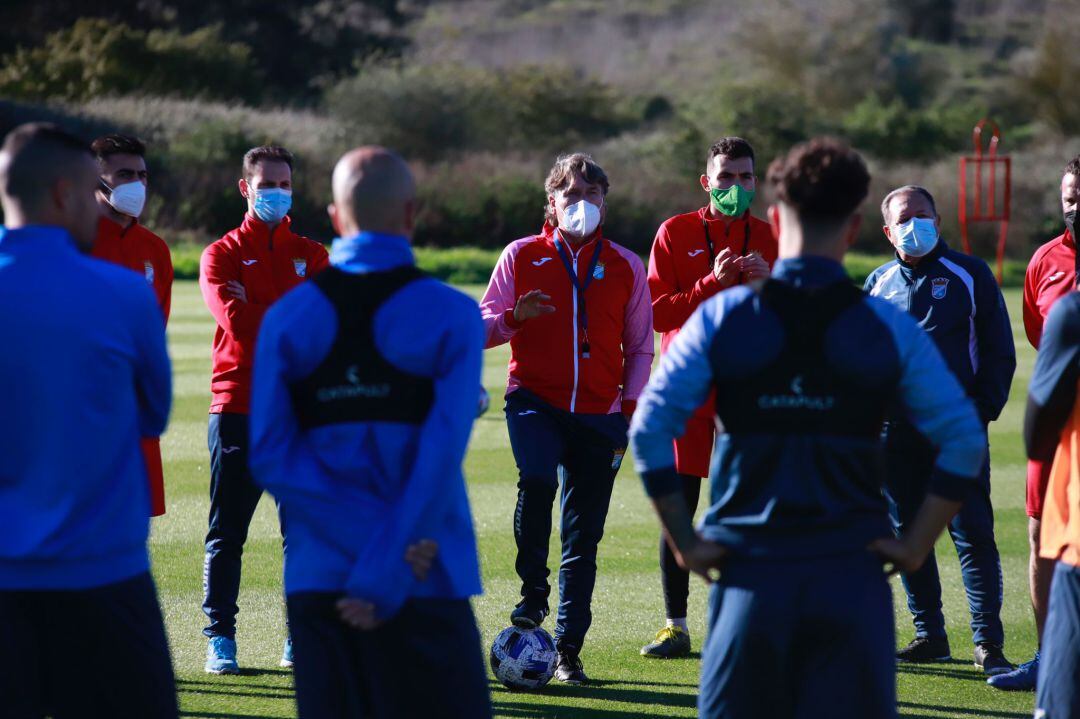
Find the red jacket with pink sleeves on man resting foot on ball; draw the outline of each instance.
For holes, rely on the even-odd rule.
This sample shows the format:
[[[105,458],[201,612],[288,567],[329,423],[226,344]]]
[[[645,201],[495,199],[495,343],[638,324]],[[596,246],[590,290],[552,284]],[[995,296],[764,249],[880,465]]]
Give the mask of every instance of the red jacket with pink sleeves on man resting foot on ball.
[[[584,293],[589,357],[583,356],[577,291],[555,249],[553,228],[545,226],[540,234],[517,240],[502,252],[480,307],[485,347],[510,342],[508,394],[525,388],[570,412],[633,412],[652,366],[645,266],[629,249],[602,241]],[[596,242],[590,240],[575,252],[579,283],[589,274]],[[550,295],[555,312],[518,323],[514,303],[532,289]]]

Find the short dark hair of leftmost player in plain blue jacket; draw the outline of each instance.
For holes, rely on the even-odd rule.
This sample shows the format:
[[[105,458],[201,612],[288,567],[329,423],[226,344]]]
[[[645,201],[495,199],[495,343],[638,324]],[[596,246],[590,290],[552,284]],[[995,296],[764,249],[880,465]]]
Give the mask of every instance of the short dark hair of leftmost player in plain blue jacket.
[[[51,122],[18,125],[0,147],[0,193],[36,207],[77,157],[91,159],[90,146]]]

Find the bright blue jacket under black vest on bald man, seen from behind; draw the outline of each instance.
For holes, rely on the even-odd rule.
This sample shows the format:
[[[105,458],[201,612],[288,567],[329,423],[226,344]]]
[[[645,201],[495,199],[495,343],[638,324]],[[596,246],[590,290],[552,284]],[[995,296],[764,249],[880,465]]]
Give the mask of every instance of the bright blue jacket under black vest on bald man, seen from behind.
[[[413,263],[405,238],[337,240],[330,263],[376,272]],[[409,597],[480,594],[480,565],[461,463],[476,416],[484,327],[476,302],[432,279],[413,282],[376,311],[379,352],[434,380],[421,425],[349,422],[301,431],[289,384],[329,352],[337,312],[311,283],[267,313],[256,344],[249,463],[281,502],[288,535],[285,592],[342,592],[392,616]],[[426,582],[406,546],[438,543]]]

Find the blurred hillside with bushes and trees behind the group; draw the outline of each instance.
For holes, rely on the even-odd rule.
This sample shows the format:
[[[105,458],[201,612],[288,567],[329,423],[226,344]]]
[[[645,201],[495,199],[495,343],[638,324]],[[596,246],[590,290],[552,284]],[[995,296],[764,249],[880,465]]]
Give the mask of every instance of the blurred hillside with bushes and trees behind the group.
[[[703,204],[711,141],[750,139],[764,176],[827,133],[874,175],[917,182],[957,236],[957,159],[989,117],[1013,157],[1010,255],[1061,231],[1057,184],[1080,151],[1080,17],[1065,0],[14,0],[0,9],[0,132],[30,119],[149,143],[145,221],[170,242],[234,227],[248,147],[298,160],[294,217],[325,216],[339,153],[381,143],[420,177],[417,243],[495,248],[536,231],[542,179],[586,150],[611,177],[607,231],[646,252]],[[767,200],[768,198],[762,198]],[[755,203],[762,213],[764,202]],[[991,253],[988,229],[976,248]]]

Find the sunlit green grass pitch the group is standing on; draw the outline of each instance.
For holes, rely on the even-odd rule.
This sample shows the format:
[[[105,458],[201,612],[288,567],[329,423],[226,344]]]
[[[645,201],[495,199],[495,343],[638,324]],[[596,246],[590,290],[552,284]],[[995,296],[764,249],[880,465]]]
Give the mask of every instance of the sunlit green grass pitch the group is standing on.
[[[470,288],[478,294],[480,288]],[[194,282],[177,282],[168,325],[175,376],[175,404],[162,439],[168,513],[154,519],[151,532],[153,574],[158,582],[173,651],[184,717],[255,719],[295,717],[291,673],[278,667],[285,635],[281,585],[281,538],[273,503],[259,505],[244,553],[237,641],[243,675],[203,674],[201,634],[203,537],[208,511],[206,410],[210,405],[210,350],[213,321]],[[1030,659],[1035,624],[1027,595],[1027,520],[1024,513],[1024,451],[1020,436],[1024,397],[1035,354],[1021,325],[1020,290],[1008,290],[1020,367],[1009,406],[990,425],[993,486],[998,546],[1004,567],[1005,653],[1013,662]],[[502,394],[508,350],[487,352],[484,384],[492,398]],[[485,642],[508,624],[517,600],[513,568],[512,507],[515,470],[500,411],[476,422],[465,463],[484,571],[484,595],[474,601]],[[557,527],[557,520],[556,520]],[[572,688],[552,682],[541,693],[511,693],[491,681],[499,717],[630,719],[692,717],[699,662],[658,662],[638,650],[660,628],[663,605],[657,567],[658,526],[629,460],[616,480],[607,531],[599,551],[593,600],[594,620],[582,660],[593,682]],[[557,532],[551,556],[557,561]],[[956,552],[943,539],[937,547],[953,653],[951,664],[900,667],[900,714],[931,717],[1030,717],[1032,695],[1007,694],[986,686],[971,663],[971,633]],[[554,568],[554,565],[553,565]],[[706,587],[690,592],[690,630],[694,650],[704,637]],[[900,583],[893,584],[897,640],[913,636]],[[550,623],[549,623],[550,624]],[[451,656],[447,661],[453,661]],[[117,688],[117,691],[123,691]],[[453,697],[447,697],[453,702]]]

